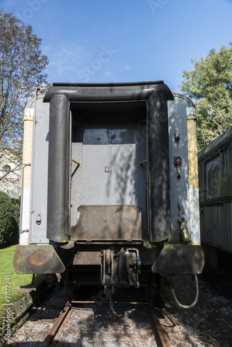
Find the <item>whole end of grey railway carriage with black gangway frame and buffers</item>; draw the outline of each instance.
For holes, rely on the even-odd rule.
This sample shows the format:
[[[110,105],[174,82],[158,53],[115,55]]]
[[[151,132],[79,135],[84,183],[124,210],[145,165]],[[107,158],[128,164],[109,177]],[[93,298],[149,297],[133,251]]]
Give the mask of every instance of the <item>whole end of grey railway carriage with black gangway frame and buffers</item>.
[[[61,276],[69,292],[201,273],[192,101],[163,81],[37,91],[24,117],[14,266]]]

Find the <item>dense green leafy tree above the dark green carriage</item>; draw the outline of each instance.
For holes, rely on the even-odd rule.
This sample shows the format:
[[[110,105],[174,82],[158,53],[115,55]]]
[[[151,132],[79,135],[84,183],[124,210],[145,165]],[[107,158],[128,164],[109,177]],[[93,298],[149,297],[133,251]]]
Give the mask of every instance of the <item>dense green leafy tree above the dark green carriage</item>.
[[[196,103],[200,150],[232,126],[232,42],[192,59],[192,65],[192,71],[183,70],[181,91]]]

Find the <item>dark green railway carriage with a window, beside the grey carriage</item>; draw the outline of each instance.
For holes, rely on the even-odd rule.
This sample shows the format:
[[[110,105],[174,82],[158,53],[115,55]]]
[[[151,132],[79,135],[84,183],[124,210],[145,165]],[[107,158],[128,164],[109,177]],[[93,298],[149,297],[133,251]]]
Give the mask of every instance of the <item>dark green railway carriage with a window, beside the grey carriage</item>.
[[[199,160],[201,242],[206,266],[232,271],[232,127]]]

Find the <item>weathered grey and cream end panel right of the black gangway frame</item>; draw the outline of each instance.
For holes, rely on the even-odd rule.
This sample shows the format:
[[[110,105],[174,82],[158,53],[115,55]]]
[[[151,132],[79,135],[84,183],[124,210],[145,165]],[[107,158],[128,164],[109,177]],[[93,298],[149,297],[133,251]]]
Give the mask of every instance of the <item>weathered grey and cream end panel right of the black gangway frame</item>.
[[[192,243],[200,244],[199,230],[199,192],[197,160],[196,120],[194,104],[181,94],[174,94],[169,101],[169,155],[172,237],[170,242],[179,242],[180,208],[183,205],[185,227],[192,235]],[[187,120],[188,119],[188,120]],[[176,131],[179,139],[175,138]],[[174,164],[175,157],[181,157],[180,178]],[[191,177],[190,177],[191,176]]]

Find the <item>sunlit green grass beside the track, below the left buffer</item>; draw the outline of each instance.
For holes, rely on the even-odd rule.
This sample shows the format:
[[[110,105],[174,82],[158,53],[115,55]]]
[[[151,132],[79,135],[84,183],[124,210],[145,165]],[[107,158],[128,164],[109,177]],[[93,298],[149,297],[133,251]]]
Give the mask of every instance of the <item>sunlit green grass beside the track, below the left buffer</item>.
[[[15,272],[13,266],[13,255],[17,245],[0,249],[0,309],[1,305],[6,304],[6,295],[10,297],[10,303],[14,303],[23,294],[15,291],[19,285],[29,285],[32,280],[32,275],[22,275]],[[10,285],[6,283],[6,277],[10,277]],[[35,276],[35,284],[44,279],[44,275]],[[10,286],[10,287],[6,287]],[[7,289],[7,290],[6,290]],[[10,293],[8,292],[10,289]],[[7,294],[6,294],[7,291]]]

